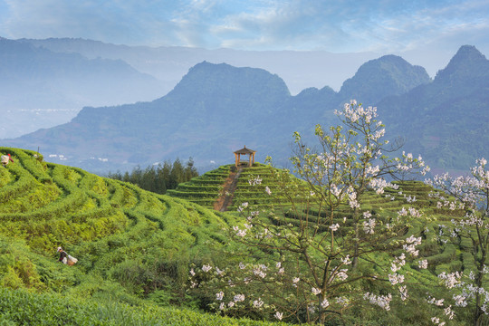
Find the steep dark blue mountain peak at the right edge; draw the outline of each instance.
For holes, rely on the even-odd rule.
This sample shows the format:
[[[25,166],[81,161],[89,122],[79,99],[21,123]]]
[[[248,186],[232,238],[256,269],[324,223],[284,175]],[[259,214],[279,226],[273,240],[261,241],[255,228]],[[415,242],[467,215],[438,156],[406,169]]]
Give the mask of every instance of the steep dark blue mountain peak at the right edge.
[[[382,120],[407,139],[406,149],[436,171],[466,171],[489,157],[489,61],[464,45],[433,82],[377,104]]]

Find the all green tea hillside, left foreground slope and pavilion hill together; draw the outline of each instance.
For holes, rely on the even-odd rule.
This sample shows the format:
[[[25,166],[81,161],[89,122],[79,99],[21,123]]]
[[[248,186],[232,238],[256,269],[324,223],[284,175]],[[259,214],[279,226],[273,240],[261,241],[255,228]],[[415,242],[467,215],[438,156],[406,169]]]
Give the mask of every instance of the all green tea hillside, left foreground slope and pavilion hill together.
[[[232,166],[209,171],[171,192],[187,198],[183,199],[153,194],[81,168],[46,164],[34,151],[0,148],[0,153],[14,158],[14,163],[0,167],[0,324],[264,324],[198,312],[207,309],[215,292],[196,296],[186,290],[191,266],[225,265],[221,249],[235,247],[223,229],[239,223],[241,217],[234,212],[241,203],[272,206],[282,211],[288,223],[296,223],[286,201],[271,202],[264,191],[264,187],[274,191],[281,170],[256,164],[239,171],[230,194],[233,202],[227,206],[231,213],[221,213],[207,207],[225,195],[222,185]],[[300,187],[302,181],[283,176]],[[418,289],[413,297],[433,290],[439,273],[473,268],[474,258],[466,251],[470,244],[465,240],[444,244],[437,238],[440,223],[459,218],[461,212],[438,208],[428,196],[431,190],[409,181],[399,183],[398,190],[362,198],[364,208],[375,215],[396,216],[403,206],[415,206],[429,216],[427,225],[409,225],[406,235],[424,228],[419,257],[427,259],[429,266],[427,270],[408,266],[410,282]],[[295,200],[300,204],[304,198]],[[348,232],[350,209],[337,213],[341,232]],[[323,213],[310,207],[307,214]],[[79,259],[78,264],[58,262],[60,245]],[[369,289],[370,284],[362,286]],[[416,324],[429,311],[423,308],[413,317],[406,309],[393,307],[397,322]],[[345,318],[373,321],[378,317],[351,312]]]

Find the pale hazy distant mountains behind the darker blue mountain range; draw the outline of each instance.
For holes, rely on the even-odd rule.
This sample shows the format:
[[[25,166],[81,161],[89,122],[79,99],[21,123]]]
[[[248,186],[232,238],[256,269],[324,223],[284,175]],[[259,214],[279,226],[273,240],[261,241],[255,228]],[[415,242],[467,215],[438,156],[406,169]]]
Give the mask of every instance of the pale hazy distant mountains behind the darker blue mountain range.
[[[375,53],[238,51],[128,46],[74,38],[0,37],[0,139],[71,120],[84,106],[152,101],[198,62],[227,62],[278,73],[293,93],[336,89]]]

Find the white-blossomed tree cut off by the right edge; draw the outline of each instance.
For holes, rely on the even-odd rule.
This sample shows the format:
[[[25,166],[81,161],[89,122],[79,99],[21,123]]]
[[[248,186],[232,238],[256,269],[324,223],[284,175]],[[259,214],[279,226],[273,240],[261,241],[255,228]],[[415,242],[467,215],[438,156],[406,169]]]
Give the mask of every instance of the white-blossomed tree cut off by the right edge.
[[[489,292],[486,290],[486,275],[489,269],[485,265],[489,251],[489,171],[484,158],[476,160],[476,167],[471,168],[470,176],[451,177],[447,173],[436,176],[427,183],[436,187],[440,192],[433,196],[438,198],[438,207],[446,206],[449,209],[462,209],[465,217],[452,220],[451,225],[441,227],[441,235],[446,235],[457,244],[464,241],[468,250],[474,257],[474,266],[471,270],[455,273],[441,273],[438,275],[447,289],[452,289],[455,307],[472,307],[473,322],[481,324],[483,316],[489,314]],[[451,196],[452,200],[450,200]],[[485,287],[484,287],[485,286]],[[442,299],[433,300],[438,306],[444,306]],[[451,305],[446,316],[453,318]],[[436,317],[437,318],[437,317]]]

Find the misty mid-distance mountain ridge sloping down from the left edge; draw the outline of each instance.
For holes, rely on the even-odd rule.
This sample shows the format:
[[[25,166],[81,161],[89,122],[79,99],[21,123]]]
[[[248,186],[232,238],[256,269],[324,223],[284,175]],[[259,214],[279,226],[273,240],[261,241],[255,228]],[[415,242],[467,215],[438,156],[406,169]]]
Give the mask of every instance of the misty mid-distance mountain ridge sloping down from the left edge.
[[[0,39],[0,138],[52,127],[83,106],[149,101],[162,82],[121,60],[87,59]],[[116,100],[117,99],[117,100]]]

